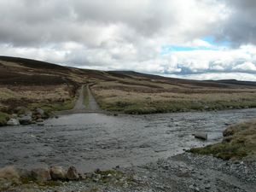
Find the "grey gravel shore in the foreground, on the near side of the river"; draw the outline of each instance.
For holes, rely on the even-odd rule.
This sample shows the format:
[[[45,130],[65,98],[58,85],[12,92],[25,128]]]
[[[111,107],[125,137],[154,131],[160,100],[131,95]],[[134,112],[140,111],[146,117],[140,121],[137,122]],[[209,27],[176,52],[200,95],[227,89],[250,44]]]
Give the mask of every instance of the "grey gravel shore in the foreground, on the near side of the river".
[[[79,181],[69,182],[36,183],[26,180],[25,183],[20,184],[6,183],[8,187],[2,191],[252,192],[256,190],[255,163],[226,161],[212,156],[188,153],[143,166],[87,172],[83,177]]]

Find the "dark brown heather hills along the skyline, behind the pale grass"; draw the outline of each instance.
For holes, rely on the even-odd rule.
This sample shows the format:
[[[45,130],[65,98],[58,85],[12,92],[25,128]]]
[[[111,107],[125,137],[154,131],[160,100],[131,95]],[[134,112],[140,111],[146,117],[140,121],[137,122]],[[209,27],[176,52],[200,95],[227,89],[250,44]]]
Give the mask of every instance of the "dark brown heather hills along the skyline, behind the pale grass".
[[[86,80],[145,79],[165,81],[169,84],[195,84],[209,87],[230,87],[232,85],[256,86],[256,82],[235,79],[199,81],[173,79],[134,71],[98,71],[64,67],[44,61],[0,56],[0,84],[63,84],[84,83]]]

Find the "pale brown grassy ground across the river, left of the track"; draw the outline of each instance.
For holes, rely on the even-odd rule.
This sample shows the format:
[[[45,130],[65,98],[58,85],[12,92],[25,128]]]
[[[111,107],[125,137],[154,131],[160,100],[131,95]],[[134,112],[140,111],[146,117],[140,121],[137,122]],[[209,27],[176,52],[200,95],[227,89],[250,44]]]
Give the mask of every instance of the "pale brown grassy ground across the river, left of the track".
[[[78,97],[76,86],[70,84],[45,86],[0,86],[0,125],[6,125],[9,116],[37,108],[44,110],[44,118],[55,111],[72,109]]]

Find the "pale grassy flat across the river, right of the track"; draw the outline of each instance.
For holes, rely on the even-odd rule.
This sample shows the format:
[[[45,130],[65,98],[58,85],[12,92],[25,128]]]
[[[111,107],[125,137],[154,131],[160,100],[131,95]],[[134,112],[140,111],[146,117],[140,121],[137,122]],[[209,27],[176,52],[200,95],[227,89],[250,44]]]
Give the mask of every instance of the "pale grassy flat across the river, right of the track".
[[[150,85],[160,88],[150,88]],[[190,87],[174,89],[172,84],[150,85],[103,82],[93,86],[92,90],[102,109],[124,113],[256,108],[256,90]]]

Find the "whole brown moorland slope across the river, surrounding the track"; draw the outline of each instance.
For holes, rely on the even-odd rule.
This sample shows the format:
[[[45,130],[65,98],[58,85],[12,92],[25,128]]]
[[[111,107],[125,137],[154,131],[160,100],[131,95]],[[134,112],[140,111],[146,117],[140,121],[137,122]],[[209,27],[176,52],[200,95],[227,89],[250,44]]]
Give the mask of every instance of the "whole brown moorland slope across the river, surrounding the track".
[[[256,107],[253,82],[171,79],[0,56],[0,111],[4,117],[38,107],[49,113],[73,108],[82,84],[90,84],[100,107],[109,111],[163,113]]]

